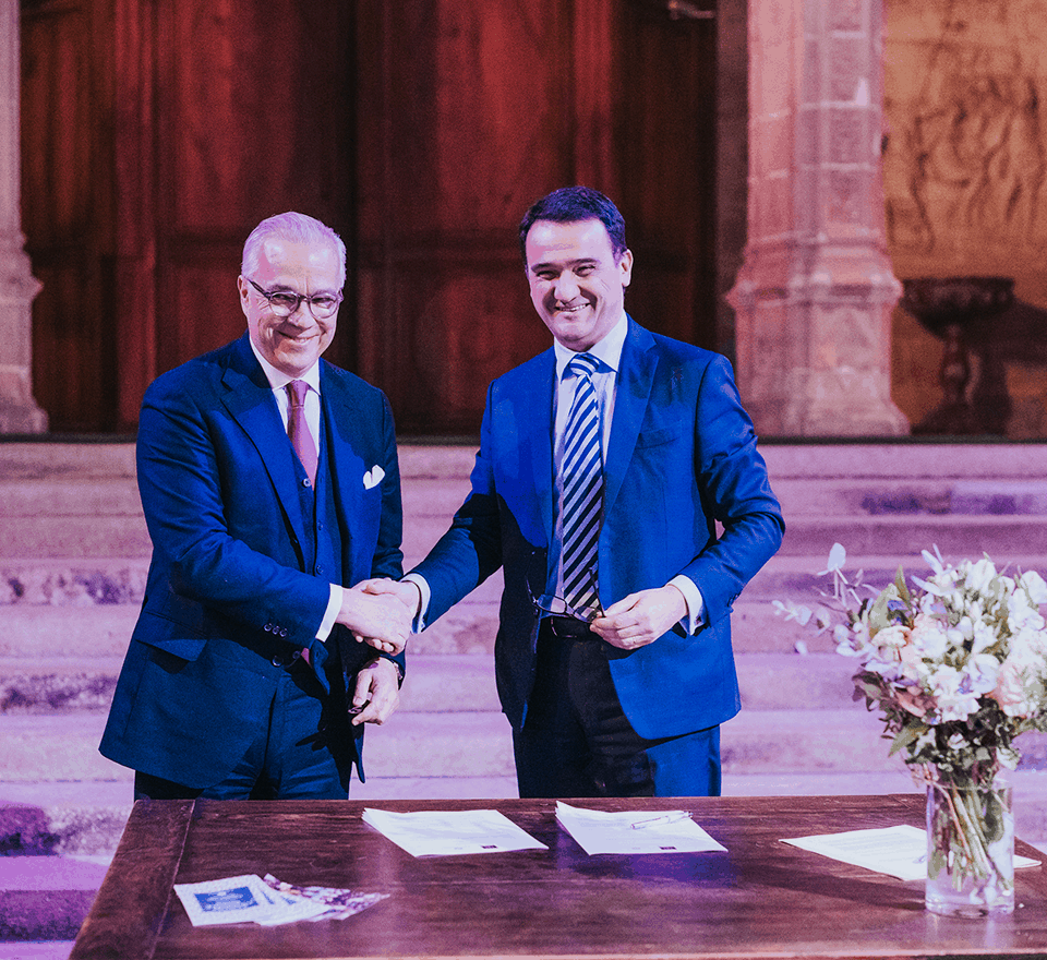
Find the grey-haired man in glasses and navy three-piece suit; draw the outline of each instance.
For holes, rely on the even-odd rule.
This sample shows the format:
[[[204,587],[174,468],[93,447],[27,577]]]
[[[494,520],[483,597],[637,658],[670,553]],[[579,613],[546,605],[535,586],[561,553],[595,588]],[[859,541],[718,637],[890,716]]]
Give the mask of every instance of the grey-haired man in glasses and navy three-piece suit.
[[[321,360],[345,277],[328,227],[263,220],[248,332],[146,391],[153,561],[100,747],[136,797],[344,799],[363,724],[397,706],[409,612],[351,589],[401,573],[393,418]]]

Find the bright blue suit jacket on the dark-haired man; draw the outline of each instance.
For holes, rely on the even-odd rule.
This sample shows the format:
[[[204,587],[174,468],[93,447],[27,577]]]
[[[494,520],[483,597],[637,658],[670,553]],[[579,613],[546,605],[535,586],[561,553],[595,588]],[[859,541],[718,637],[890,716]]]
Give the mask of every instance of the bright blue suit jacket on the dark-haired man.
[[[554,380],[550,349],[491,384],[472,491],[417,567],[432,590],[430,622],[504,567],[495,669],[503,709],[517,728],[535,669],[539,621],[531,595],[552,595],[556,586],[550,560]],[[605,645],[625,713],[649,739],[721,723],[741,706],[731,605],[784,531],[724,357],[629,320],[605,480],[599,544],[604,608],[685,574],[701,590],[707,624],[695,636],[670,632],[628,653]]]

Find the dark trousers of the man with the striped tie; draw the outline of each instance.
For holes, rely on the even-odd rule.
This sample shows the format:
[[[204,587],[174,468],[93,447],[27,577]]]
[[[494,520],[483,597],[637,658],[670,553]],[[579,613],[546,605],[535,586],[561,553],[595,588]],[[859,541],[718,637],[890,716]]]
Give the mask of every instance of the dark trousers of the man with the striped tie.
[[[542,622],[534,691],[513,734],[520,796],[719,796],[720,728],[645,740],[614,689],[612,650]]]

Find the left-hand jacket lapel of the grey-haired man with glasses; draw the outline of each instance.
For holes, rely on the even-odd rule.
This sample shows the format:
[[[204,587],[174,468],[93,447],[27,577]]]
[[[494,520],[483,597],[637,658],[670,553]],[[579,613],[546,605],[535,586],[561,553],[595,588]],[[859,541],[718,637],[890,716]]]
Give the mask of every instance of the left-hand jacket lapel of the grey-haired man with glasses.
[[[244,334],[232,348],[231,361],[222,375],[226,394],[222,403],[232,418],[254,444],[269,480],[284,506],[299,543],[305,542],[302,511],[298,499],[298,480],[294,460],[289,455],[290,445],[280,411],[269,382],[265,379],[258,361],[251,352],[248,335]]]

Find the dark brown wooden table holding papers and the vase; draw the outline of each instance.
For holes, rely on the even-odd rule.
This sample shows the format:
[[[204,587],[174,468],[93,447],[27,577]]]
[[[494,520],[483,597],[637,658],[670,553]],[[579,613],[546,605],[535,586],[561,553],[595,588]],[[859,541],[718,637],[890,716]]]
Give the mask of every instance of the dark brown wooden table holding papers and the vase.
[[[552,801],[389,801],[383,809],[496,808],[549,850],[414,859],[363,803],[153,801],[135,805],[72,960],[84,958],[1047,957],[1047,866],[1020,871],[992,921],[924,910],[923,881],[798,850],[783,837],[900,823],[922,796],[575,801],[689,809],[726,853],[588,856]],[[1019,852],[1039,854],[1019,842]],[[193,927],[174,883],[273,873],[392,896],[342,921]]]

